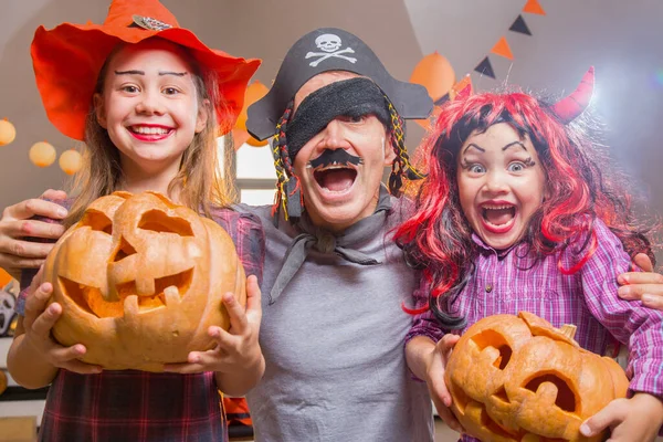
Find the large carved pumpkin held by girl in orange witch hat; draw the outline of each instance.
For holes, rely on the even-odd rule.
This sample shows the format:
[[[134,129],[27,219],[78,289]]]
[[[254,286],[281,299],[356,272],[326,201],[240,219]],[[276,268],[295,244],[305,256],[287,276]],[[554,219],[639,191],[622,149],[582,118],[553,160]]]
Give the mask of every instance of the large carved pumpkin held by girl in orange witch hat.
[[[246,299],[228,233],[155,192],[95,200],[49,254],[44,280],[63,306],[55,338],[106,369],[159,371],[213,348],[209,326],[229,327],[222,295]]]

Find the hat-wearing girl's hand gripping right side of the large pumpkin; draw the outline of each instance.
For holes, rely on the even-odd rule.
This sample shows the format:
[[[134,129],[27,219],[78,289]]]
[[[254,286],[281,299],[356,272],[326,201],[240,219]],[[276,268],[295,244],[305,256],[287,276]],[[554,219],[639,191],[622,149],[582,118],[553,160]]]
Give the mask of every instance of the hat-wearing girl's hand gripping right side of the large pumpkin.
[[[246,278],[245,311],[230,292],[223,295],[223,304],[230,315],[230,329],[225,332],[215,326],[208,329],[209,336],[217,341],[217,347],[208,351],[191,351],[188,362],[167,364],[164,366],[165,371],[236,373],[264,367],[264,358],[257,343],[262,318],[257,278],[255,276]]]

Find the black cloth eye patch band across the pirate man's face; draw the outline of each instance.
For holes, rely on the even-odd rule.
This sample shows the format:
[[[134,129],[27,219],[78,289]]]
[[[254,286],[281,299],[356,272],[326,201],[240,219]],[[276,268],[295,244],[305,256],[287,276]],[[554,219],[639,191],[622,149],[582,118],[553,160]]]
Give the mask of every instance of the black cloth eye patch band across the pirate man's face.
[[[382,91],[368,78],[332,83],[302,101],[287,124],[287,152],[292,162],[306,143],[337,117],[357,118],[375,115],[389,126],[389,110]]]

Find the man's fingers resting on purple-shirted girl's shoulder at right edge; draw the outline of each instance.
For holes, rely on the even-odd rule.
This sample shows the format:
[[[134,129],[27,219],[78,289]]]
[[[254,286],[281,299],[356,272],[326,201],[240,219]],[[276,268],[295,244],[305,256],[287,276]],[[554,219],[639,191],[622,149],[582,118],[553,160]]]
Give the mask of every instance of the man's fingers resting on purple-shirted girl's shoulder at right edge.
[[[636,254],[633,263],[644,272],[627,272],[619,275],[619,297],[640,299],[646,307],[663,311],[663,275],[653,272],[652,262],[644,253]]]

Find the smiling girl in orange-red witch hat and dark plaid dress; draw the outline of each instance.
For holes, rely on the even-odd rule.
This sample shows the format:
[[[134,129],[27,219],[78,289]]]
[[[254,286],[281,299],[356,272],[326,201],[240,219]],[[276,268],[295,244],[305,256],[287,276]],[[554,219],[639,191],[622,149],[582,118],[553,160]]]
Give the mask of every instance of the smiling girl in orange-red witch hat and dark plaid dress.
[[[115,0],[103,24],[38,29],[36,84],[50,120],[85,141],[86,164],[65,225],[95,199],[116,190],[158,191],[219,222],[233,238],[248,280],[246,312],[224,297],[233,327],[210,327],[214,350],[191,352],[166,372],[102,371],[50,335],[62,307],[36,281],[19,301],[21,318],[8,356],[27,388],[51,385],[40,430],[49,441],[222,441],[218,388],[241,396],[264,370],[257,345],[264,249],[260,221],[223,207],[217,141],[242,107],[257,60],[211,50],[179,28],[156,0]],[[30,282],[34,275],[23,275]]]

